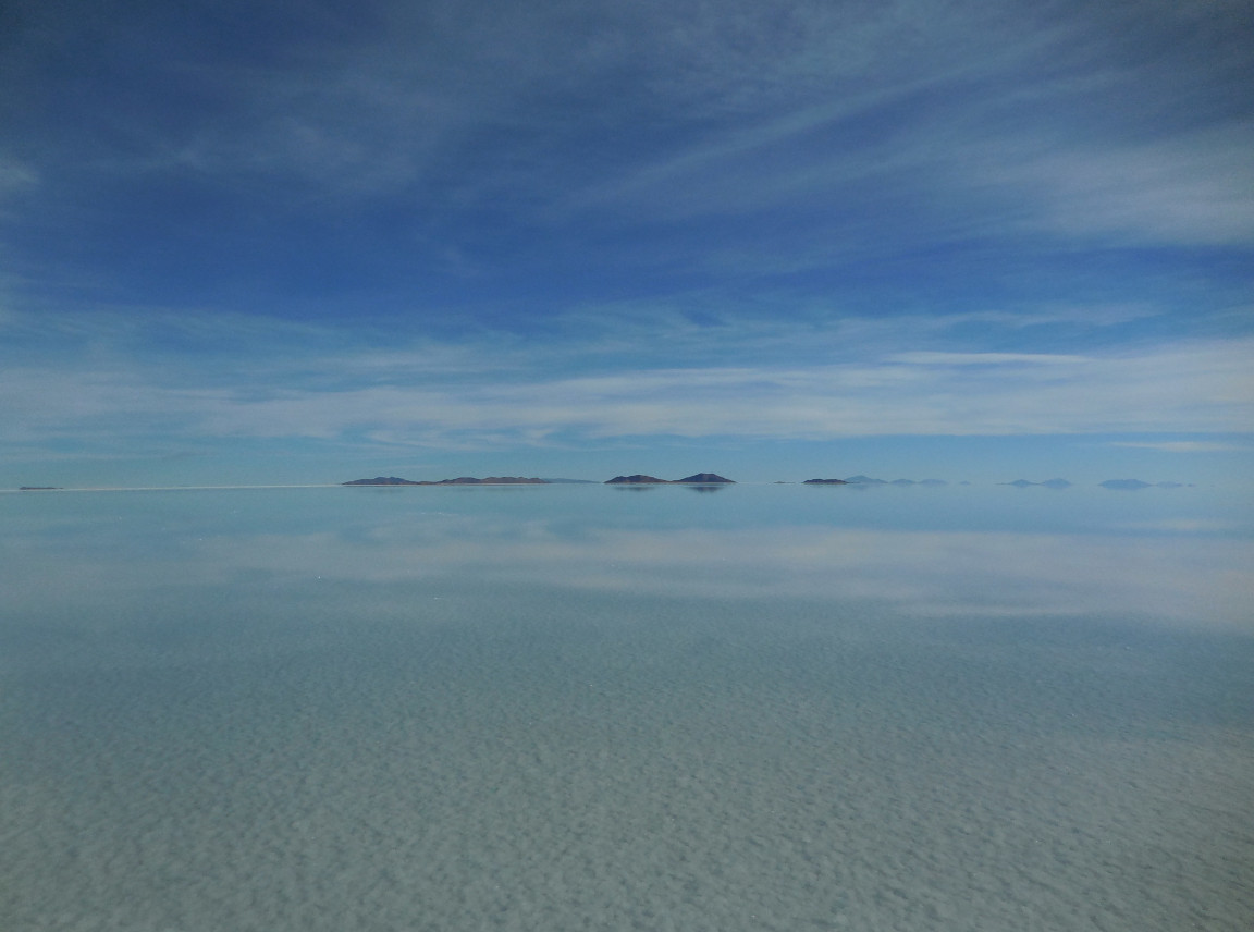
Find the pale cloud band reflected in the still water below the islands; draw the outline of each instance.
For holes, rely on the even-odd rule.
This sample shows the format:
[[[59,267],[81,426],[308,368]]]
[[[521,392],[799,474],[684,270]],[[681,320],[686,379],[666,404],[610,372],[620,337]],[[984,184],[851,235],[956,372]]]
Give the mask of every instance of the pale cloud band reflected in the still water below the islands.
[[[171,578],[479,580],[705,598],[872,600],[910,613],[1144,616],[1249,626],[1254,542],[785,527],[599,531],[424,516],[354,537],[208,538]]]

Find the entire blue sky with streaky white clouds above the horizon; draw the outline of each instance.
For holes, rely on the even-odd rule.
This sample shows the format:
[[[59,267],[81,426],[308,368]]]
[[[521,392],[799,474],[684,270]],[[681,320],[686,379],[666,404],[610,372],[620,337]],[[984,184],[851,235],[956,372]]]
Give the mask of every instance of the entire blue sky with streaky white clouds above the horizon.
[[[1248,0],[6,0],[0,487],[1254,477]]]

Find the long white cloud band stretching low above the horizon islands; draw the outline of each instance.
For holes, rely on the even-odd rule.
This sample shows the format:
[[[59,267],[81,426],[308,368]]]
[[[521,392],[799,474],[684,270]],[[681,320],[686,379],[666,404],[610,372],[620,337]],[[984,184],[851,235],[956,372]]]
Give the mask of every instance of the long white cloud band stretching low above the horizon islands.
[[[775,339],[781,351],[772,359],[786,357],[789,345],[805,346],[813,334],[803,326],[791,335],[777,330]],[[337,346],[325,334],[285,342],[271,332],[248,354],[199,361],[140,354],[133,337],[43,363],[18,354],[0,370],[0,408],[10,413],[0,429],[9,443],[24,444],[369,437],[434,447],[657,434],[1254,430],[1250,339],[1087,355],[877,349],[859,355],[846,347],[830,361],[821,351],[798,354],[798,363],[754,361],[746,352],[741,365],[696,366],[647,366],[637,352],[599,369],[588,359],[602,357],[602,335],[589,340],[591,346],[574,339],[548,350],[498,339],[406,344],[398,336],[391,347],[377,349]]]

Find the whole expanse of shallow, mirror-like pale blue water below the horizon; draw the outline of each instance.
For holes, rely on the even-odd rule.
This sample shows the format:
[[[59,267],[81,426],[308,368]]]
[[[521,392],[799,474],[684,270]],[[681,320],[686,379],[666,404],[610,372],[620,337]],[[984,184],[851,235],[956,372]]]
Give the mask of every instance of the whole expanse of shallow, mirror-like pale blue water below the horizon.
[[[1245,929],[1203,489],[0,495],[0,929]]]

